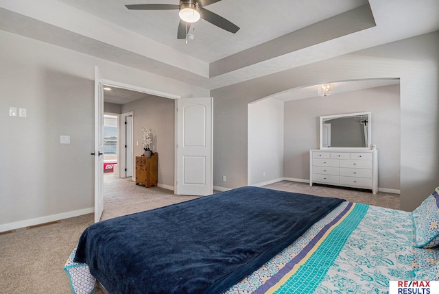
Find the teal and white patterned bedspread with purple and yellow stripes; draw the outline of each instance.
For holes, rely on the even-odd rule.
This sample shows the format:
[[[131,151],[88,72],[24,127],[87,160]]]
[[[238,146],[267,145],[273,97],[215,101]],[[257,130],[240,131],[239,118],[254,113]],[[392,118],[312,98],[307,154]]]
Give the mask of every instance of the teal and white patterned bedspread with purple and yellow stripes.
[[[388,293],[390,280],[427,280],[439,260],[414,238],[412,212],[343,202],[226,293]]]

